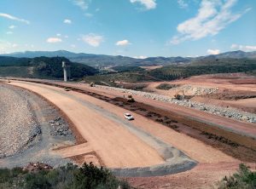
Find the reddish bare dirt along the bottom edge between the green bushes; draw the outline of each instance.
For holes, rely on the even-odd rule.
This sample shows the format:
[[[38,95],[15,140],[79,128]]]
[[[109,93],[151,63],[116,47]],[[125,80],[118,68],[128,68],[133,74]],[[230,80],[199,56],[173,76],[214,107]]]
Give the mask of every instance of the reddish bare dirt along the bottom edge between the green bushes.
[[[159,177],[127,178],[126,180],[137,189],[166,189],[166,188],[217,188],[217,183],[225,175],[232,175],[238,169],[238,163],[200,163],[195,169]],[[252,169],[256,163],[248,164]]]

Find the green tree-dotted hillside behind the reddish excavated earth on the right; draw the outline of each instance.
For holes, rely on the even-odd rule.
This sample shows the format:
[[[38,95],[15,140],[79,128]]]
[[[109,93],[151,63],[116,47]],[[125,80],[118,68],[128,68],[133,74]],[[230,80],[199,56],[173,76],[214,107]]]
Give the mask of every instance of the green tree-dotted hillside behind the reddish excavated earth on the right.
[[[135,69],[129,66],[120,69],[118,73],[95,75],[84,77],[87,82],[105,82],[113,84],[112,81],[127,83],[139,83],[149,81],[171,81],[177,78],[190,77],[203,74],[247,72],[253,74],[256,70],[256,60],[251,59],[216,59],[207,57],[200,60],[194,60],[189,64],[176,66],[163,66],[151,71]]]

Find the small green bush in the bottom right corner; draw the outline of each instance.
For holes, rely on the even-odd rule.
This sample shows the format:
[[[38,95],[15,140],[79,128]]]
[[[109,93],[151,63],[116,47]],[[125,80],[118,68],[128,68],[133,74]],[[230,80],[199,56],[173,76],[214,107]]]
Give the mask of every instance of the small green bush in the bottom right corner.
[[[256,188],[256,172],[251,171],[245,164],[239,165],[236,174],[225,176],[218,183],[219,189],[253,189]]]

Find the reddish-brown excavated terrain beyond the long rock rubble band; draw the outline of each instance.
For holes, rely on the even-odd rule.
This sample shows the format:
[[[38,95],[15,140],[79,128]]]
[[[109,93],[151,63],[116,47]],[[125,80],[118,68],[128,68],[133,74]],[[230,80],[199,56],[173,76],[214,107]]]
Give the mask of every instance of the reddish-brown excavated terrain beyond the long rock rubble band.
[[[157,89],[161,83],[177,85],[173,89]],[[145,84],[145,83],[144,83]],[[209,105],[234,107],[244,112],[256,112],[256,78],[244,73],[214,74],[189,77],[173,82],[147,83],[143,90],[156,94],[174,97],[175,94],[184,94],[193,97],[190,100]],[[191,87],[190,87],[191,86]],[[195,91],[201,89],[218,89],[207,94]]]

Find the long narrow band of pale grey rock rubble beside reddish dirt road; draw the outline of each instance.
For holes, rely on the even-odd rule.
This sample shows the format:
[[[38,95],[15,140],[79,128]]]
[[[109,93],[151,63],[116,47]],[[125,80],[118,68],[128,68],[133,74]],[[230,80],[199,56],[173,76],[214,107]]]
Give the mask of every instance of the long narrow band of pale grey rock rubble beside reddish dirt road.
[[[177,100],[165,95],[153,94],[153,93],[148,93],[143,91],[136,91],[131,89],[119,89],[119,88],[107,87],[102,85],[96,85],[96,88],[119,91],[122,93],[128,93],[132,95],[139,95],[148,99],[173,103],[173,104],[177,104],[178,106],[186,106],[186,107],[190,107],[190,108],[204,111],[204,112],[211,112],[212,114],[215,114],[218,116],[230,117],[230,118],[240,120],[240,121],[245,121],[248,123],[256,123],[256,114],[249,113],[249,112],[241,112],[235,108],[230,108],[230,107],[224,108],[221,106],[207,105],[207,104],[195,102],[192,100]],[[208,92],[213,93],[214,91],[217,91],[217,90],[218,89],[211,89]]]

